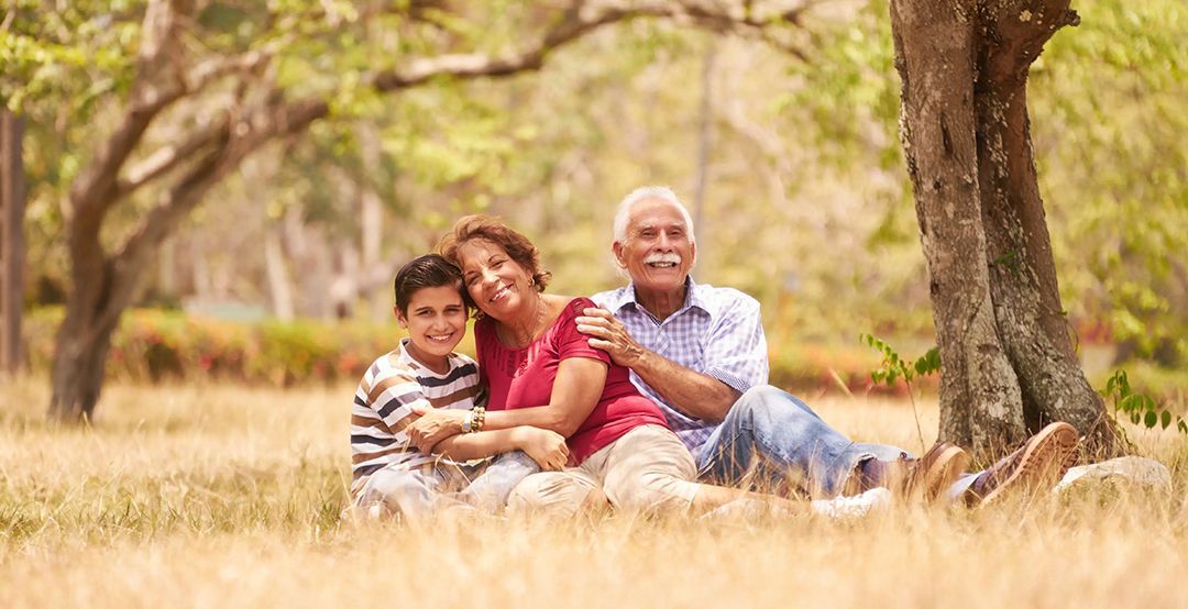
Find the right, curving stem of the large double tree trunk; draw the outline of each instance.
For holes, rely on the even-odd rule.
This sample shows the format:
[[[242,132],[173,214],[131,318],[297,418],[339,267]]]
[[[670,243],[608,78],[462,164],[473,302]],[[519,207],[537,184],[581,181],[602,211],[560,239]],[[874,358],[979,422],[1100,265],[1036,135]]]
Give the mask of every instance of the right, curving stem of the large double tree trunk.
[[[982,226],[996,318],[1018,373],[1028,430],[1063,420],[1108,455],[1116,433],[1081,369],[1060,299],[1026,106],[1031,63],[1056,30],[1079,21],[1068,5],[1017,1],[982,14],[975,85]]]

